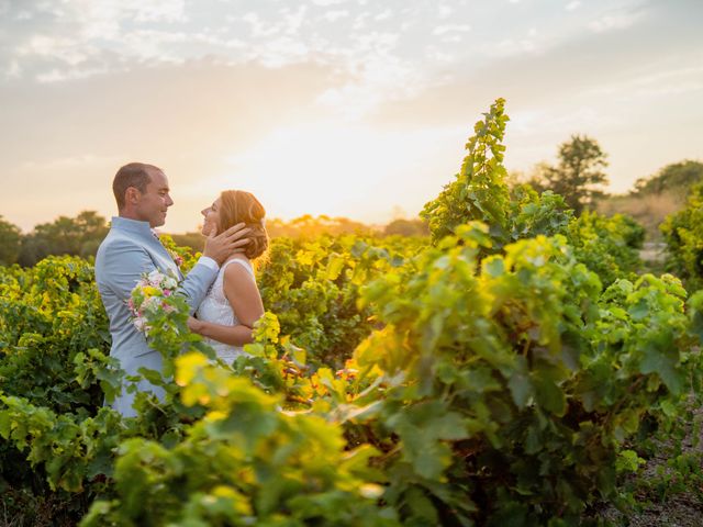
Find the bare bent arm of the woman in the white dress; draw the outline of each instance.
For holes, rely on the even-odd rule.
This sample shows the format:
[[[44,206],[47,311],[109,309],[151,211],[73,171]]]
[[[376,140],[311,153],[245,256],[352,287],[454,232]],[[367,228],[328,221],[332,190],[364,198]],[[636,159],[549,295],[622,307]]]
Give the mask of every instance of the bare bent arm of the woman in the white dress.
[[[191,332],[219,343],[231,346],[248,344],[252,341],[254,323],[264,315],[264,304],[256,281],[242,266],[231,265],[224,270],[223,289],[238,325],[224,326],[190,318],[188,326]]]

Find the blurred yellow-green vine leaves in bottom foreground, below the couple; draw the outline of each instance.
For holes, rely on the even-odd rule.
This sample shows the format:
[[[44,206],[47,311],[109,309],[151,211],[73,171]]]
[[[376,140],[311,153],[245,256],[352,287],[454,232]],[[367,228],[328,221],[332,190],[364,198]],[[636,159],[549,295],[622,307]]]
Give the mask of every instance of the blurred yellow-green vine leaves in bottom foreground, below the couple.
[[[345,450],[338,427],[278,412],[276,396],[200,354],[177,362],[183,402],[208,413],[175,448],[123,442],[118,497],[81,525],[398,525],[376,505],[382,487],[366,482],[372,448]]]

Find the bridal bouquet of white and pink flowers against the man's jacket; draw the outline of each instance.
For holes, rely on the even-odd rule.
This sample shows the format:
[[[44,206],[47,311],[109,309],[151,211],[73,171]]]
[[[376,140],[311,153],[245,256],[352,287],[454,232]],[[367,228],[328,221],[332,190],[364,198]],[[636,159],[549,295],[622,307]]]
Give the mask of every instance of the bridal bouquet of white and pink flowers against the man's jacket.
[[[167,272],[154,269],[149,273],[142,274],[142,278],[132,290],[127,307],[132,314],[132,323],[138,332],[148,336],[152,327],[147,323],[148,318],[158,313],[171,313],[176,309],[168,299],[178,287],[178,279]]]

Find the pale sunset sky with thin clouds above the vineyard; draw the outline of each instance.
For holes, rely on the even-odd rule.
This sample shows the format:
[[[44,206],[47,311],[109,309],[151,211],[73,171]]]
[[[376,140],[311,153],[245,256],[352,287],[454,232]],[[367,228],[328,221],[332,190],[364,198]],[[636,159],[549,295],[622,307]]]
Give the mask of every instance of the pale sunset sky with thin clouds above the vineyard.
[[[271,217],[415,215],[498,97],[506,166],[571,134],[624,192],[703,158],[703,0],[0,0],[0,214],[115,213],[164,168],[166,231],[224,189]]]

